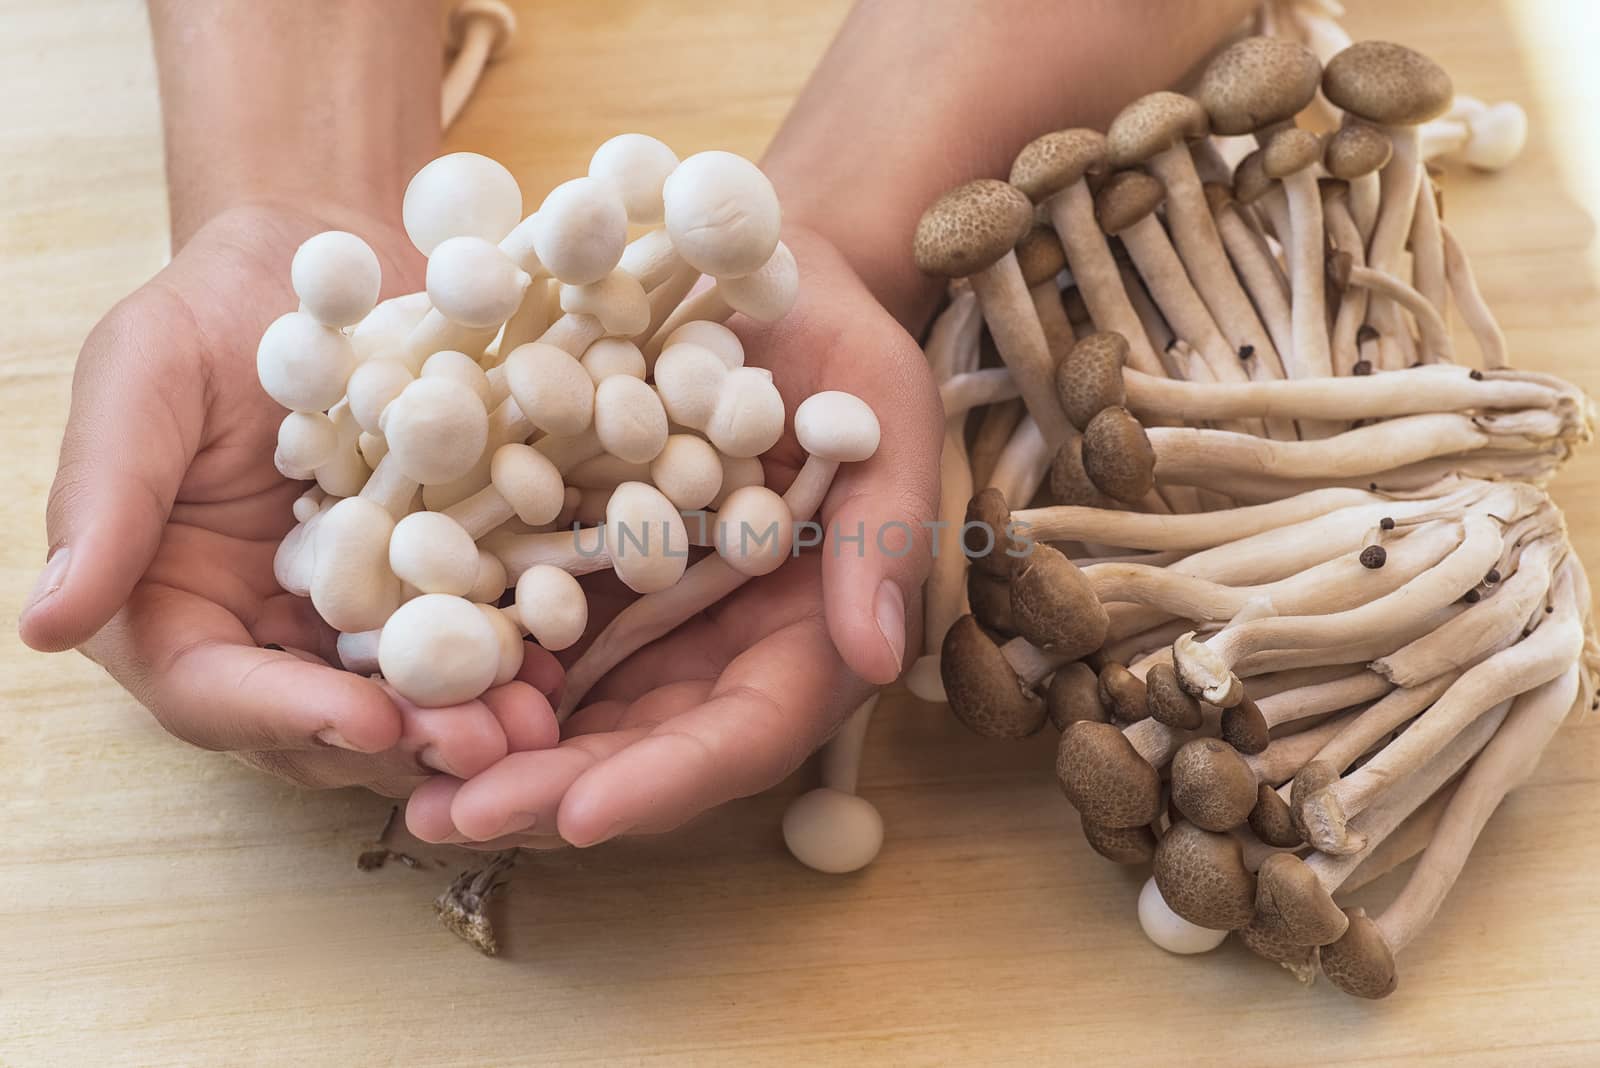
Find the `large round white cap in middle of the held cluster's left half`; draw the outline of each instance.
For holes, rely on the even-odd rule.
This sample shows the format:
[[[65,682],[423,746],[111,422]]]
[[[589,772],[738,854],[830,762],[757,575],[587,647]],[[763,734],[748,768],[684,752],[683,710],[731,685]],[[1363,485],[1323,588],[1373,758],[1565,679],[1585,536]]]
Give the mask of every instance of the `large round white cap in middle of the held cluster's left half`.
[[[483,401],[461,382],[418,379],[382,412],[389,459],[424,486],[461,478],[490,438]]]

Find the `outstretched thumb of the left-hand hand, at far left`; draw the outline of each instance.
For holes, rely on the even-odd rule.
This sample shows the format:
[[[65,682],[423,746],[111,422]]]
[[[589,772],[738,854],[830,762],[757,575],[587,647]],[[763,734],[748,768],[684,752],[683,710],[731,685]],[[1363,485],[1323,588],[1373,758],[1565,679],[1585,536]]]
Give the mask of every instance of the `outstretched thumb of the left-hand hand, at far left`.
[[[90,333],[50,488],[50,555],[22,609],[22,641],[82,644],[122,608],[162,542],[198,448],[198,339],[178,296],[146,286]]]

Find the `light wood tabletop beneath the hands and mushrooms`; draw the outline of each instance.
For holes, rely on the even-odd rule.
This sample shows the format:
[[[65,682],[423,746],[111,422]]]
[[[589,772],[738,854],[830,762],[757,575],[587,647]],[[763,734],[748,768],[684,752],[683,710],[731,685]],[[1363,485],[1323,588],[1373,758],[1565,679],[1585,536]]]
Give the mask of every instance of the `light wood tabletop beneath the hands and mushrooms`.
[[[619,130],[758,153],[845,3],[518,6],[517,54],[451,144],[536,195]],[[1350,6],[1357,37],[1528,107],[1526,157],[1451,173],[1446,219],[1517,361],[1595,392],[1592,8]],[[506,954],[477,956],[429,908],[454,855],[355,870],[386,801],[186,748],[88,662],[18,644],[72,358],[160,264],[165,200],[142,5],[5,0],[0,27],[0,1065],[1600,1063],[1584,724],[1496,815],[1379,1004],[1237,946],[1165,956],[1134,923],[1136,878],[1083,846],[1053,737],[979,742],[904,695],[867,747],[888,822],[870,870],[787,857],[802,774],[678,835],[528,857]],[[1597,489],[1595,454],[1557,486],[1592,566]]]

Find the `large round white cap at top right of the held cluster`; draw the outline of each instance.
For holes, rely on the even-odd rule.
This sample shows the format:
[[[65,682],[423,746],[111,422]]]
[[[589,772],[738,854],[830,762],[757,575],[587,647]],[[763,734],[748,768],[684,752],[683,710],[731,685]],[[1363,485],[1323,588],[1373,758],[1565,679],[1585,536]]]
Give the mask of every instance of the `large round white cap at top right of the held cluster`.
[[[661,190],[672,246],[694,270],[738,278],[760,270],[782,229],[773,184],[744,157],[698,152]]]

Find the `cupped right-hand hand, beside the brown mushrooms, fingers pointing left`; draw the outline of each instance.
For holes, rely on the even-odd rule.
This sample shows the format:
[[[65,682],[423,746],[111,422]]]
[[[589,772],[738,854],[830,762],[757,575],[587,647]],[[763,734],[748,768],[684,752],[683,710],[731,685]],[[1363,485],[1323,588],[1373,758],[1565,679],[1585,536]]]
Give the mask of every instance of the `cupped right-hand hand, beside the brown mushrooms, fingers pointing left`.
[[[621,664],[555,748],[421,787],[406,809],[419,838],[589,846],[670,830],[778,783],[899,675],[938,505],[938,392],[922,350],[827,241],[797,229],[786,241],[800,297],[773,326],[731,323],[747,363],[771,369],[790,412],[845,390],[882,425],[877,454],[842,467],[822,504],[824,544]],[[786,486],[803,459],[787,433],[765,457],[768,484]],[[592,630],[622,593],[614,579],[592,585]]]

